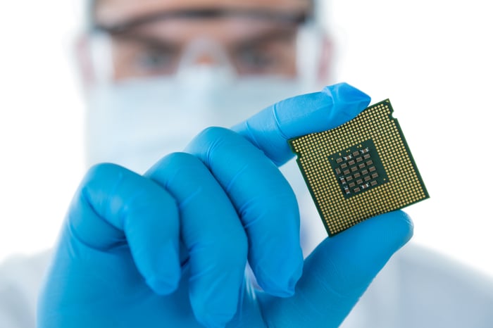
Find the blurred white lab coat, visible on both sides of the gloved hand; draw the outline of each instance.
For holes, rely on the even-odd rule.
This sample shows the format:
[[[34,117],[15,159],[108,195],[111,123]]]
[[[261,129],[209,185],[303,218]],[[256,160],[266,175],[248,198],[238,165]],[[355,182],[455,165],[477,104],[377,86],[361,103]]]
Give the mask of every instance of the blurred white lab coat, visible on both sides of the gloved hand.
[[[0,267],[0,327],[34,328],[49,252]],[[493,282],[425,248],[396,253],[342,328],[491,328]]]

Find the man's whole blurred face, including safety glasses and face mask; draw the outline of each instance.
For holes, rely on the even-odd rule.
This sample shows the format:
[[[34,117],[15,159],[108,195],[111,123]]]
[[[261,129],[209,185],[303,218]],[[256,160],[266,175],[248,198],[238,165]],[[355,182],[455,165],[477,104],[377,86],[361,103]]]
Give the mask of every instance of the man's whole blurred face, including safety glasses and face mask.
[[[205,127],[314,90],[311,0],[95,1],[79,52],[88,165],[145,172]]]

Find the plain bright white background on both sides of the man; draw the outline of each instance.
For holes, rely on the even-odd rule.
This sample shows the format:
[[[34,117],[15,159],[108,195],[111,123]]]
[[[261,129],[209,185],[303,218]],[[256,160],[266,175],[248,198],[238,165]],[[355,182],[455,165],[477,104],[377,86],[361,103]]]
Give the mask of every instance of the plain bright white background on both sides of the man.
[[[391,99],[431,198],[414,242],[493,277],[493,20],[487,1],[333,0],[337,80]],[[56,240],[84,174],[70,1],[0,11],[0,260]]]

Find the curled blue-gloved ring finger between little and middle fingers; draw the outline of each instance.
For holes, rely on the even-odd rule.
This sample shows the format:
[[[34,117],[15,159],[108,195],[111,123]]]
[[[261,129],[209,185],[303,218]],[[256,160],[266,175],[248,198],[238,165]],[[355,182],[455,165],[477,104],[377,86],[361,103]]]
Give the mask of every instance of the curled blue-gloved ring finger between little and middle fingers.
[[[246,266],[246,234],[235,208],[206,166],[187,153],[166,156],[146,176],[177,200],[197,320],[225,326],[236,313]]]

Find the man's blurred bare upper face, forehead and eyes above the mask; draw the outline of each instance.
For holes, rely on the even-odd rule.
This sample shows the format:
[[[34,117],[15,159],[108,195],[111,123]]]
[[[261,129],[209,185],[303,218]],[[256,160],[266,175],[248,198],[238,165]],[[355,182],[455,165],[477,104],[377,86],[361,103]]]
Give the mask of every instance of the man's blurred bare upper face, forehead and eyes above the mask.
[[[238,75],[297,75],[297,32],[308,0],[99,0],[114,81],[227,62]]]

